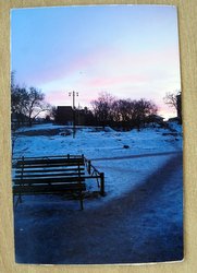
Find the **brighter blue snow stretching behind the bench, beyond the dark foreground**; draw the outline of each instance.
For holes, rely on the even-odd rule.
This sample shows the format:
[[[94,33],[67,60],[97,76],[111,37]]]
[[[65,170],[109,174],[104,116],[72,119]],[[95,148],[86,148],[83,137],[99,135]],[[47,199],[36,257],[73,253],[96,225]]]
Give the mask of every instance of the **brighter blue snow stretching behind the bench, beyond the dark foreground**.
[[[38,124],[20,131],[54,128],[67,130],[67,127],[63,126]],[[181,151],[182,138],[175,140],[172,135],[162,135],[167,132],[164,129],[153,128],[139,132],[116,132],[109,128],[103,131],[100,128],[98,130],[78,127],[74,139],[72,134],[20,135],[15,142],[13,157],[84,154],[99,171],[104,173],[107,197],[102,201],[87,202],[86,206],[93,209],[143,183],[145,178],[161,168],[174,152]],[[124,149],[124,145],[128,147]],[[169,155],[171,152],[172,155]],[[135,157],[136,155],[139,157]],[[95,180],[89,179],[87,186],[89,190],[97,190]]]

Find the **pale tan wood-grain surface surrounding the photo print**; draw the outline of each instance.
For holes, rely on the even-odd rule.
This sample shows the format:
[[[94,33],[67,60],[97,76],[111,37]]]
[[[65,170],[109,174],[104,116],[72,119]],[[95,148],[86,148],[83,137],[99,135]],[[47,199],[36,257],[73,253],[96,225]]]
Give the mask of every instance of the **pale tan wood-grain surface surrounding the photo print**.
[[[10,131],[10,9],[70,4],[171,4],[178,11],[184,127],[184,261],[140,265],[23,265],[14,262]],[[197,8],[196,0],[1,0],[0,1],[0,272],[173,272],[197,268]]]

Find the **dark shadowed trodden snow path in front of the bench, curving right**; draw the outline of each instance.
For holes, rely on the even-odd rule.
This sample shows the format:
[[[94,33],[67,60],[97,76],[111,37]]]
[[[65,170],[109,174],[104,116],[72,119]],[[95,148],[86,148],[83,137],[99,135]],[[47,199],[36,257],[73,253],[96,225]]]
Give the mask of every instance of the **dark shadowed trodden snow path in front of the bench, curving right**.
[[[16,262],[141,263],[183,259],[182,155],[94,210],[63,202],[15,211]],[[25,203],[23,204],[25,205]]]

